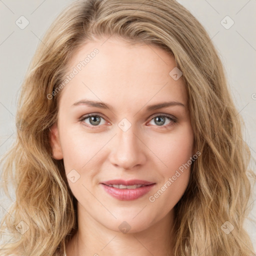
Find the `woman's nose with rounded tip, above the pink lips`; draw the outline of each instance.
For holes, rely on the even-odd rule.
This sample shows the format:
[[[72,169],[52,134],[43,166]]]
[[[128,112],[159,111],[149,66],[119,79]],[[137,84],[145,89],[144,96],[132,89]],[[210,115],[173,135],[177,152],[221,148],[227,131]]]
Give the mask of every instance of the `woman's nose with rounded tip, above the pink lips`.
[[[134,133],[133,126],[127,131],[117,127],[117,134],[113,139],[109,160],[115,167],[128,170],[146,162],[146,146],[141,135]]]

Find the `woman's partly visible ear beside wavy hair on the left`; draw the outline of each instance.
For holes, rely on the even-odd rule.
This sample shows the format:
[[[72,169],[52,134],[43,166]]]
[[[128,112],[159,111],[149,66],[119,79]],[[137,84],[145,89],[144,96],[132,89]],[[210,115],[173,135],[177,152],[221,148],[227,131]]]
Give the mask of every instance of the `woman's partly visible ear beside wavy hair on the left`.
[[[54,123],[50,127],[49,138],[50,138],[50,146],[52,150],[52,157],[57,160],[63,159],[62,149],[59,141],[57,123]]]

